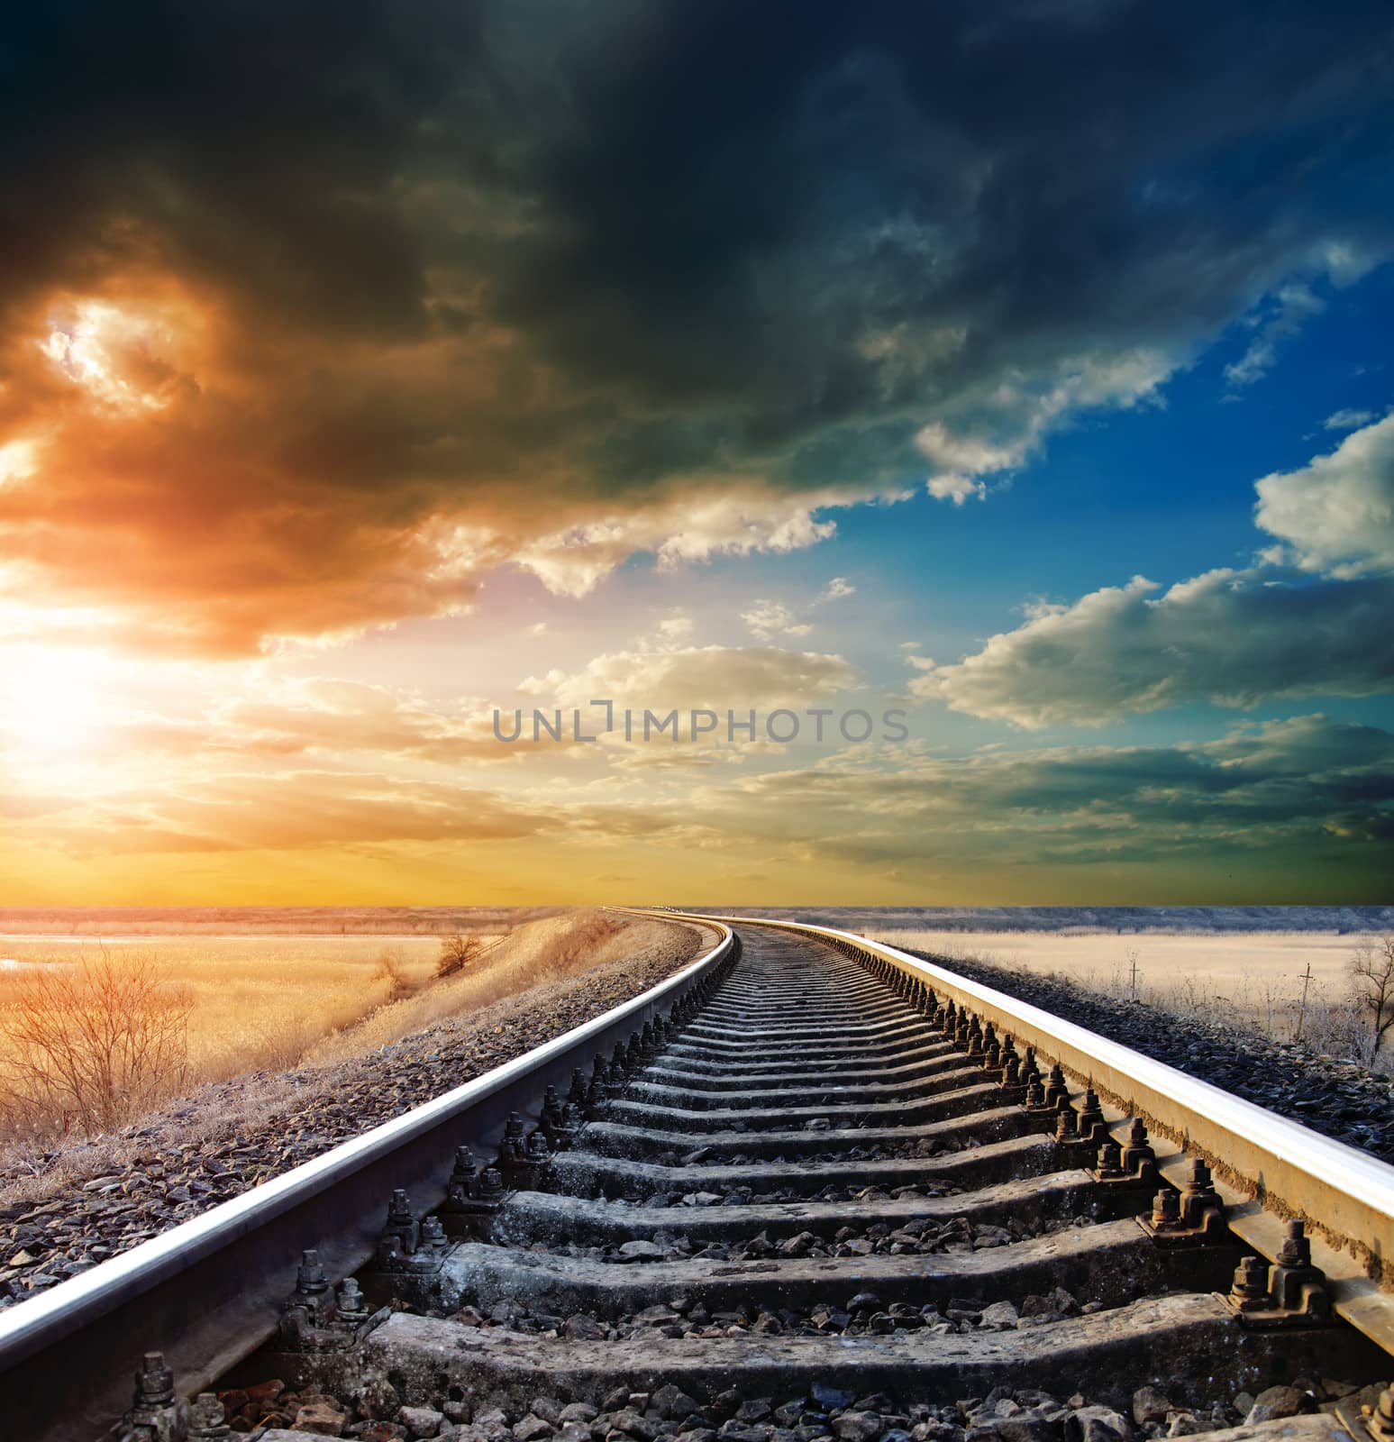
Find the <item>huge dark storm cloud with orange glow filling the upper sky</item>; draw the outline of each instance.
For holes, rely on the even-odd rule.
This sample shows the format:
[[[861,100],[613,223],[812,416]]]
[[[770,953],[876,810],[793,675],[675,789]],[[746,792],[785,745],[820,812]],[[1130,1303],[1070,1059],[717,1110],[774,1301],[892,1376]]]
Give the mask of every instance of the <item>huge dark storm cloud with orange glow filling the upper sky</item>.
[[[1375,6],[69,4],[0,68],[0,532],[196,645],[1002,469],[1390,239]],[[108,349],[138,444],[37,349],[84,296],[206,320]]]

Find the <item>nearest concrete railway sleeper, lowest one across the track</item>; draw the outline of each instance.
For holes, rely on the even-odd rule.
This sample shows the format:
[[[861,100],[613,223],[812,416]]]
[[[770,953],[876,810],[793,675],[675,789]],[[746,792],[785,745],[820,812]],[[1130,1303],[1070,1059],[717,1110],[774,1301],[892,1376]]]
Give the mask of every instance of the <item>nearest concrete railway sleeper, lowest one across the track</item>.
[[[516,1416],[526,1415],[539,1394],[600,1406],[617,1387],[647,1402],[672,1386],[698,1407],[727,1394],[807,1399],[833,1389],[843,1392],[851,1406],[869,1393],[907,1402],[983,1399],[1006,1379],[1013,1390],[1039,1389],[1058,1397],[1068,1387],[1127,1412],[1135,1392],[1149,1381],[1166,1386],[1169,1380],[1191,1405],[1208,1406],[1228,1400],[1235,1389],[1257,1394],[1299,1374],[1388,1371],[1388,1357],[1371,1344],[1342,1338],[1332,1328],[1282,1337],[1251,1331],[1209,1293],[1146,1298],[1026,1330],[901,1331],[856,1338],[637,1335],[577,1341],[401,1312],[378,1327],[358,1353],[268,1360],[280,1368],[278,1376],[313,1381],[340,1396],[386,1381],[408,1405],[431,1406],[457,1396]],[[827,1425],[826,1410],[820,1425]]]

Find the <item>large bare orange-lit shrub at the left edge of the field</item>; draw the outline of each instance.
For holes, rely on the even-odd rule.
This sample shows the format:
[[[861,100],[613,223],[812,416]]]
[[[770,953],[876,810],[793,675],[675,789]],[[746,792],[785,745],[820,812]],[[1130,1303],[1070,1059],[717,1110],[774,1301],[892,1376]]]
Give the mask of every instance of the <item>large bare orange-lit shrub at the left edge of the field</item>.
[[[95,1136],[172,1096],[187,1080],[192,1011],[153,955],[99,947],[36,969],[0,1011],[12,1126]]]

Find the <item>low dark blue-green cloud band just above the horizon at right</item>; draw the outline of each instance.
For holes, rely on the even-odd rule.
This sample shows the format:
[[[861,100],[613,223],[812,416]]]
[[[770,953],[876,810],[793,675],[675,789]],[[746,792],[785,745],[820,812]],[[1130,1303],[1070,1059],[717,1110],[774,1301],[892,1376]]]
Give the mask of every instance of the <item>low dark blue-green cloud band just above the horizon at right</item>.
[[[1380,864],[1391,805],[1394,735],[1309,715],[1195,746],[907,757],[894,774],[778,771],[742,786],[727,823],[767,841],[833,836],[859,861],[1146,861],[1303,841],[1364,867]]]

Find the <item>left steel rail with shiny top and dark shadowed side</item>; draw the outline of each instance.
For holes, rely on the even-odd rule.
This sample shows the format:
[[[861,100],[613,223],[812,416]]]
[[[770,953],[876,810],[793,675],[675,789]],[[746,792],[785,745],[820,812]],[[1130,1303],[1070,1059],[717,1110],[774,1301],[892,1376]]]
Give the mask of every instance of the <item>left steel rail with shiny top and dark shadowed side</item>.
[[[509,1112],[536,1119],[548,1084],[626,1040],[735,946],[709,917],[665,916],[718,942],[649,991],[422,1106],[0,1312],[6,1436],[91,1442],[131,1400],[146,1351],[163,1351],[180,1392],[212,1384],[277,1327],[300,1253],[330,1276],[372,1255],[386,1201],[404,1188],[419,1216],[445,1197],[457,1146],[497,1151]]]

